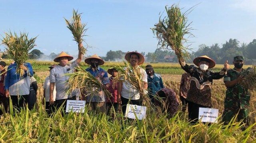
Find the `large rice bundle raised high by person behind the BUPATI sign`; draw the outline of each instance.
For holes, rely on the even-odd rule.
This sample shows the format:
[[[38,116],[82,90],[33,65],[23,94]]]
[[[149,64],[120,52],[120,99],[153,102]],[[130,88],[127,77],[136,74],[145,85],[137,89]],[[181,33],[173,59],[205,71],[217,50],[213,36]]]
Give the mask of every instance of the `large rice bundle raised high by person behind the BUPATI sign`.
[[[192,30],[188,23],[187,14],[189,10],[184,14],[178,5],[173,4],[171,7],[165,7],[167,16],[161,19],[155,24],[153,28],[154,35],[158,39],[158,45],[162,49],[173,50],[180,62],[184,62],[184,58],[189,56],[188,47],[184,47],[183,44],[187,42],[185,38],[194,36],[190,33]]]

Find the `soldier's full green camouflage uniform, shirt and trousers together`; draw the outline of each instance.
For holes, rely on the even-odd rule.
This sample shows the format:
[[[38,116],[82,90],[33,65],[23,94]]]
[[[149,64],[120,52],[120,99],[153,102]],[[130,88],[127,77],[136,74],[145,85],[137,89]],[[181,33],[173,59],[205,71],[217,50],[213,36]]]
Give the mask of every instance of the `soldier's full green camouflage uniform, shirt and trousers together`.
[[[226,76],[224,76],[224,82],[235,80],[240,76],[239,72],[234,70],[228,70]],[[244,72],[244,69],[242,69],[242,72]],[[243,120],[243,122],[248,125],[249,101],[250,94],[248,89],[242,87],[240,84],[228,87],[224,101],[222,121],[228,124],[230,120],[238,114],[238,121]]]

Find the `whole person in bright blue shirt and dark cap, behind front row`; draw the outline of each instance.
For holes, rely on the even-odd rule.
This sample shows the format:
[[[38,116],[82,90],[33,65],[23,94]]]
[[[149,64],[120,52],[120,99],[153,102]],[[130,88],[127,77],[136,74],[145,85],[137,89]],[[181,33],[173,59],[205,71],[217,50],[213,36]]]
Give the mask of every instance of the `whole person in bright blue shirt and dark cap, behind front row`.
[[[146,65],[146,73],[148,74],[148,95],[151,102],[154,103],[154,95],[164,88],[164,84],[161,75],[154,72],[152,65]]]

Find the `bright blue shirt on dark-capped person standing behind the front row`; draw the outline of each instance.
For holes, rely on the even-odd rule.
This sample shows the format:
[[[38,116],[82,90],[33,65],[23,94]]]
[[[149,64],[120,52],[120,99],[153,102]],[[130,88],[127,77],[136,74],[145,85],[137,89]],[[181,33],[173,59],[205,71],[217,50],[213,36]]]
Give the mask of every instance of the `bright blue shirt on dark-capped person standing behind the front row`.
[[[150,98],[162,88],[164,88],[164,84],[160,74],[154,74],[153,78],[148,75],[148,95]]]

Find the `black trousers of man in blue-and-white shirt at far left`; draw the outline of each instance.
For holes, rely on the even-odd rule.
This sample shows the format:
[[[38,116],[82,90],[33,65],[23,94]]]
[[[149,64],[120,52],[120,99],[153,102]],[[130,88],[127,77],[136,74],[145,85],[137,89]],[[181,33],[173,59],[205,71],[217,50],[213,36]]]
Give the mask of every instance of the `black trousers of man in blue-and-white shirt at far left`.
[[[12,106],[20,111],[21,108],[28,104],[28,96],[29,95],[20,95],[18,99],[17,95],[11,95]]]

